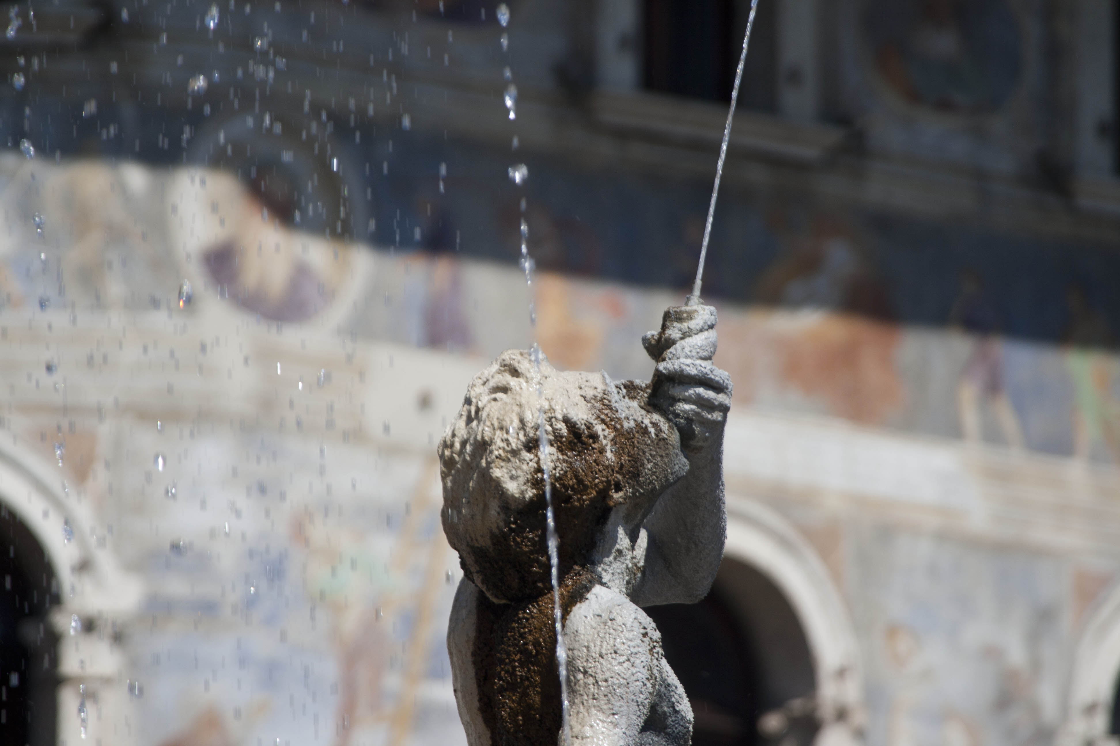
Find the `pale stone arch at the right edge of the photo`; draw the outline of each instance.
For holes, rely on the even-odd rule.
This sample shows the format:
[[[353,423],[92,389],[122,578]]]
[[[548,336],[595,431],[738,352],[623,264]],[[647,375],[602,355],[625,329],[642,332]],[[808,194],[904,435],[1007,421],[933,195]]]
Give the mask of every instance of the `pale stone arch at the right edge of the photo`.
[[[1110,734],[1120,679],[1120,583],[1098,598],[1086,615],[1070,672],[1062,746],[1117,744]]]

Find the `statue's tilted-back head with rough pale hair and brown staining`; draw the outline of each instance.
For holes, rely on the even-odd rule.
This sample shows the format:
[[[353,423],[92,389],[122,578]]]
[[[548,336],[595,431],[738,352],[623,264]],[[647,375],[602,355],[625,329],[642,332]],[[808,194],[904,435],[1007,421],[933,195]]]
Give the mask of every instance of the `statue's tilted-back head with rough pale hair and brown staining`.
[[[538,386],[543,397],[538,394]],[[549,436],[561,577],[588,567],[608,517],[636,532],[688,471],[676,429],[640,384],[561,372],[507,351],[470,383],[439,443],[444,531],[464,573],[496,603],[551,588],[540,416]]]

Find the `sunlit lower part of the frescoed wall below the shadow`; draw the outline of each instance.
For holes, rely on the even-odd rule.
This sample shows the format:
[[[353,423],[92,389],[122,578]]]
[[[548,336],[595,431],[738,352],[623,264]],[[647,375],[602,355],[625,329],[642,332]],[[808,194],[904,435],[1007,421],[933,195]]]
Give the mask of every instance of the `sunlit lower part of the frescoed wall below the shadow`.
[[[292,233],[214,172],[0,172],[0,499],[56,563],[58,742],[85,686],[93,743],[463,743],[433,446],[528,342],[523,276]],[[536,292],[552,361],[614,378],[681,300]],[[1116,357],[1005,340],[1000,398],[963,333],[720,314],[728,554],[797,613],[822,733],[1102,734]]]

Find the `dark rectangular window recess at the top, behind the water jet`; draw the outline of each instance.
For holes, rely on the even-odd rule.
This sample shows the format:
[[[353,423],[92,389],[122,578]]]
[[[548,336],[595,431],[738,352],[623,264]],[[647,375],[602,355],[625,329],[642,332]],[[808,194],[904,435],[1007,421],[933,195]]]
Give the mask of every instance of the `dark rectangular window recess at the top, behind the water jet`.
[[[646,0],[645,87],[730,101],[749,0]],[[775,111],[775,9],[759,2],[739,107]]]

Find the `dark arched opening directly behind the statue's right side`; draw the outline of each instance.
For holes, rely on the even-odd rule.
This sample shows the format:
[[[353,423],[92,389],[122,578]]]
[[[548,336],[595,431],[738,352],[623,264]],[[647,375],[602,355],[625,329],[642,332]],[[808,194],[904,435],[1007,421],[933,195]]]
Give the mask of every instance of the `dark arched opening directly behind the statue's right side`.
[[[645,611],[692,703],[696,746],[812,743],[812,652],[793,606],[769,578],[725,558],[699,604]]]

